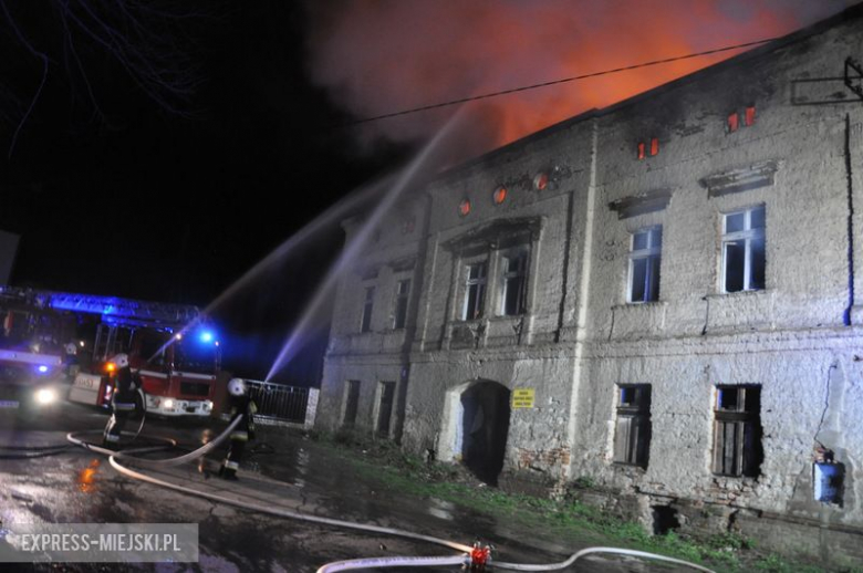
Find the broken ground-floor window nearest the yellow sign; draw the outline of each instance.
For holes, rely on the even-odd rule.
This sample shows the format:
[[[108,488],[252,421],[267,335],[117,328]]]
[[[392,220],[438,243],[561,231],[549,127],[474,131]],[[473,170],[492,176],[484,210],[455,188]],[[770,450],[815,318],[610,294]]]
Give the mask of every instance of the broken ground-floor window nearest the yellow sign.
[[[614,461],[647,467],[651,447],[651,385],[618,386]]]

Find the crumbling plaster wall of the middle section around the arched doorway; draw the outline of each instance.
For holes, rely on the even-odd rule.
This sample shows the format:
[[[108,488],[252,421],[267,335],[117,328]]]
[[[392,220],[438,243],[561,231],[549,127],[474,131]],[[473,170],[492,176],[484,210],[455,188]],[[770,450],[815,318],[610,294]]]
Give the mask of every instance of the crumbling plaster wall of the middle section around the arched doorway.
[[[510,416],[505,472],[523,472],[540,480],[560,479],[569,469],[566,436],[573,389],[572,352],[555,345],[564,298],[573,277],[568,265],[573,232],[572,213],[582,211],[584,187],[592,160],[592,132],[580,123],[562,126],[537,140],[513,144],[472,167],[432,186],[428,254],[419,304],[418,340],[410,357],[410,385],[405,413],[405,447],[434,449],[443,459],[456,459],[454,445],[457,396],[479,381],[497,382],[508,389],[533,388],[533,408],[514,409]],[[536,177],[548,176],[538,189]],[[500,186],[507,199],[495,205]],[[458,212],[467,198],[471,211]],[[486,241],[482,230],[505,221],[507,232],[528,226],[534,231],[530,252],[528,310],[521,319],[497,316],[499,279],[489,275],[486,313],[472,347],[456,347],[453,332],[462,329],[460,304],[467,257],[496,257],[497,246],[471,248]],[[477,233],[478,241],[469,239]],[[506,238],[503,238],[506,240]],[[493,241],[492,241],[493,242]],[[456,246],[456,247],[454,247]],[[478,254],[477,254],[478,253]],[[569,284],[569,289],[568,285]],[[518,322],[517,322],[518,321]],[[520,327],[520,335],[512,330]],[[509,330],[509,336],[506,336]]]

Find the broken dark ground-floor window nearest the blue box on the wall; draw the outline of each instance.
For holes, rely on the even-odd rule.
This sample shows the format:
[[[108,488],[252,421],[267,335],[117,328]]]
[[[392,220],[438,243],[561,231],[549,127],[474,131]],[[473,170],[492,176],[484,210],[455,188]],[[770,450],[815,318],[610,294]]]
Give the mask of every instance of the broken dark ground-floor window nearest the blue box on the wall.
[[[763,459],[760,411],[760,386],[717,386],[714,473],[758,476]]]

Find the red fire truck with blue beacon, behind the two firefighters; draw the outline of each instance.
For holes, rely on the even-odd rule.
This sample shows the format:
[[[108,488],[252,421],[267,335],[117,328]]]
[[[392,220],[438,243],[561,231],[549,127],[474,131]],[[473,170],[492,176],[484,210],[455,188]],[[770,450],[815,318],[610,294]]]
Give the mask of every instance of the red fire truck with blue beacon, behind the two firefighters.
[[[108,407],[114,367],[110,361],[125,353],[141,376],[147,414],[212,413],[221,348],[196,306],[70,293],[53,293],[51,305],[100,316],[90,366],[75,376],[70,402]]]

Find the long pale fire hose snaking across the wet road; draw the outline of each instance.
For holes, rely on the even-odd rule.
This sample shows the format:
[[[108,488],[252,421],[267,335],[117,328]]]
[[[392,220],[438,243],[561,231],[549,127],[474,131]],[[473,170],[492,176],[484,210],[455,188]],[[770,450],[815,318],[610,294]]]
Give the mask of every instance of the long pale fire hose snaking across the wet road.
[[[119,473],[136,479],[139,481],[144,481],[146,483],[150,483],[154,486],[158,486],[162,488],[170,489],[174,491],[178,491],[181,493],[187,493],[190,496],[199,497],[209,499],[211,501],[220,502],[220,503],[227,503],[230,506],[235,506],[238,508],[257,511],[261,513],[268,513],[271,515],[280,517],[280,518],[288,518],[293,520],[301,520],[301,521],[309,521],[312,523],[319,523],[323,525],[331,525],[336,528],[344,528],[344,529],[353,529],[370,533],[378,533],[378,534],[386,534],[386,535],[394,535],[399,536],[404,539],[409,539],[413,541],[422,541],[427,542],[432,544],[443,545],[449,549],[454,549],[458,552],[460,552],[458,555],[448,555],[448,556],[386,556],[386,558],[366,558],[366,559],[355,559],[355,560],[346,560],[346,561],[339,561],[333,563],[327,563],[323,566],[321,566],[318,570],[318,573],[334,573],[339,571],[351,571],[351,570],[361,570],[361,569],[370,569],[370,567],[422,567],[422,566],[445,566],[445,565],[462,565],[462,566],[469,566],[471,565],[471,553],[475,552],[476,548],[471,548],[469,545],[465,545],[458,542],[444,540],[440,538],[435,538],[432,535],[424,535],[420,533],[414,533],[409,531],[404,531],[399,529],[394,528],[384,528],[379,525],[372,525],[366,523],[356,523],[351,521],[343,521],[332,518],[322,518],[318,515],[310,515],[306,513],[300,513],[297,511],[292,511],[289,509],[281,509],[272,506],[261,506],[258,503],[252,503],[248,501],[242,501],[239,499],[231,499],[223,496],[219,496],[216,493],[210,493],[206,491],[196,490],[194,488],[189,488],[186,486],[179,486],[177,483],[171,483],[169,481],[160,480],[158,478],[155,478],[153,476],[147,476],[145,473],[141,473],[138,471],[135,471],[127,466],[124,466],[121,463],[121,460],[129,460],[134,463],[142,465],[142,466],[148,466],[148,467],[171,467],[171,466],[179,466],[181,463],[186,463],[188,461],[193,461],[195,459],[198,459],[205,455],[207,455],[209,451],[211,451],[214,448],[218,447],[219,444],[225,441],[229,436],[230,433],[233,430],[235,427],[240,423],[242,419],[242,416],[238,416],[226,429],[222,431],[218,437],[210,440],[206,445],[201,446],[200,448],[190,451],[188,454],[185,454],[183,456],[178,456],[176,458],[168,458],[168,459],[147,459],[136,456],[136,454],[146,454],[146,452],[153,452],[158,450],[164,450],[167,447],[174,447],[176,446],[176,441],[170,438],[158,438],[165,442],[165,445],[162,446],[152,446],[152,447],[141,447],[135,449],[127,449],[124,451],[115,451],[111,450],[108,448],[103,448],[101,446],[97,446],[95,444],[87,442],[81,438],[81,436],[84,435],[92,435],[92,434],[101,434],[101,430],[90,430],[90,431],[82,431],[82,433],[70,433],[66,435],[66,439],[75,445],[83,447],[87,450],[95,451],[98,454],[103,454],[108,456],[108,462],[111,466],[117,470]],[[134,434],[135,437],[141,433],[138,429],[138,433]],[[125,435],[132,435],[132,433],[123,433]],[[694,563],[689,563],[687,561],[668,558],[665,555],[657,555],[654,553],[647,553],[644,551],[636,551],[636,550],[627,550],[627,549],[616,549],[616,548],[589,548],[581,550],[576,553],[573,553],[568,560],[562,561],[560,563],[550,563],[550,564],[523,564],[523,563],[507,563],[507,562],[500,562],[500,561],[491,561],[489,560],[488,565],[493,569],[500,569],[500,570],[510,570],[510,571],[559,571],[562,569],[565,569],[570,565],[572,565],[575,561],[583,558],[588,554],[593,553],[606,553],[606,554],[617,554],[617,555],[631,555],[631,556],[638,556],[644,559],[651,559],[656,561],[664,561],[667,563],[674,563],[678,565],[686,565],[689,566],[696,571],[704,571],[706,573],[714,573],[711,570],[696,565]],[[486,550],[485,555],[488,555],[488,551]],[[485,565],[485,558],[482,559],[482,565]]]

